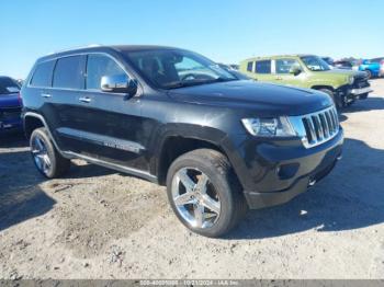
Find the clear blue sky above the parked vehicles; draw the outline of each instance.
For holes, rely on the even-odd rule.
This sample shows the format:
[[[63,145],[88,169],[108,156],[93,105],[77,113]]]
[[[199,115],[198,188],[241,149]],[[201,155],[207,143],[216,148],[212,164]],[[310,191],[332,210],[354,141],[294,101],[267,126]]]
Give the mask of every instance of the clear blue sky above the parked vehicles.
[[[0,74],[90,44],[187,48],[215,61],[384,56],[383,0],[1,0]]]

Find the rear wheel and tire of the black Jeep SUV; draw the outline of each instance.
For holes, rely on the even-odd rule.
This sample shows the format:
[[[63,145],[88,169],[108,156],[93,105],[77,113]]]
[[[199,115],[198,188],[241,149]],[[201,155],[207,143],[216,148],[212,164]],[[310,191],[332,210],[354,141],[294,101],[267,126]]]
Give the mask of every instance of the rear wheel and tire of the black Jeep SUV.
[[[33,162],[45,177],[58,177],[68,171],[70,160],[57,151],[44,127],[33,130],[30,147]]]

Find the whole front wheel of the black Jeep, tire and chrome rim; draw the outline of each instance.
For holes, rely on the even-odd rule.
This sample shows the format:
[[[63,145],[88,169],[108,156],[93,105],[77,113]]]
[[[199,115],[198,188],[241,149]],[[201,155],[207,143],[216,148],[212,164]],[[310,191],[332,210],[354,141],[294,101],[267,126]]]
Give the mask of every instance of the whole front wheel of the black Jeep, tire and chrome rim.
[[[168,171],[167,193],[179,220],[205,237],[227,233],[248,210],[228,159],[211,149],[176,159]]]

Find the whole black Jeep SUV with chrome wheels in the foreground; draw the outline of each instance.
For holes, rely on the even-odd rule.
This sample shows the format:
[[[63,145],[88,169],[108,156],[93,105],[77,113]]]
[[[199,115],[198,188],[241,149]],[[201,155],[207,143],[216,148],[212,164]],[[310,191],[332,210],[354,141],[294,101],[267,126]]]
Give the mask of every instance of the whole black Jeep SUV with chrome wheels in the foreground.
[[[178,218],[218,237],[248,208],[324,177],[342,129],[320,92],[242,81],[195,53],[93,46],[38,59],[22,89],[31,152],[46,177],[70,159],[167,185]]]

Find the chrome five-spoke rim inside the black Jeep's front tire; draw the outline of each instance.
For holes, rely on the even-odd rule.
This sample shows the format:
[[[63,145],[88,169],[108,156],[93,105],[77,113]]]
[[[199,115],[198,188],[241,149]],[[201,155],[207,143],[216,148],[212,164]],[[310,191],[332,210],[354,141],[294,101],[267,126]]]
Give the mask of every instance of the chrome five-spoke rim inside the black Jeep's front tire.
[[[172,179],[172,199],[179,215],[194,228],[210,228],[221,215],[218,193],[206,174],[180,169]]]

